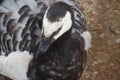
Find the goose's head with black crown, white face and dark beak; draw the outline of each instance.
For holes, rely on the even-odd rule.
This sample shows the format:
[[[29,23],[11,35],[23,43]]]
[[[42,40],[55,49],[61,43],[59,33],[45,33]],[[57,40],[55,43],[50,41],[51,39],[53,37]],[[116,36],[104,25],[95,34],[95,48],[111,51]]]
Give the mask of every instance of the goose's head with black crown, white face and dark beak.
[[[42,25],[42,39],[39,43],[38,53],[45,53],[49,46],[72,27],[72,14],[70,6],[57,2],[52,4],[45,12]]]

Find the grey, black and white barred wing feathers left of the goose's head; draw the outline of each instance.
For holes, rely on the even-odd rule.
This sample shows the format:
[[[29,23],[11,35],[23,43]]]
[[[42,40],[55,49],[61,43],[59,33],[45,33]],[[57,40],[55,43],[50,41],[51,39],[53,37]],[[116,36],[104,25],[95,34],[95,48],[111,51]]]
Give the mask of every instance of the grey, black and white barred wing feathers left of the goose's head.
[[[32,51],[40,41],[46,9],[45,4],[35,0],[0,1],[0,55]]]

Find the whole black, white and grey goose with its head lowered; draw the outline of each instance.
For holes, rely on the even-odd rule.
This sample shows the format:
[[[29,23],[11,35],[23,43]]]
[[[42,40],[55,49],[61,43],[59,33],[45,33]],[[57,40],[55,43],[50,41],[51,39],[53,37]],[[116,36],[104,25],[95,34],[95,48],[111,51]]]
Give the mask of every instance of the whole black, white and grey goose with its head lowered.
[[[13,80],[79,80],[90,43],[76,0],[0,1],[2,75]]]

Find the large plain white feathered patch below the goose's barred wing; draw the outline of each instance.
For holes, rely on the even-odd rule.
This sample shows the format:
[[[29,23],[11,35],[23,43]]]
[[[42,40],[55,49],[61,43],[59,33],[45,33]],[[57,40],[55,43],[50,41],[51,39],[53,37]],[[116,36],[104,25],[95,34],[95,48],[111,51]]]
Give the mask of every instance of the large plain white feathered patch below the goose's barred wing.
[[[27,51],[16,51],[8,56],[0,56],[0,74],[13,80],[27,80],[26,72],[32,58]]]

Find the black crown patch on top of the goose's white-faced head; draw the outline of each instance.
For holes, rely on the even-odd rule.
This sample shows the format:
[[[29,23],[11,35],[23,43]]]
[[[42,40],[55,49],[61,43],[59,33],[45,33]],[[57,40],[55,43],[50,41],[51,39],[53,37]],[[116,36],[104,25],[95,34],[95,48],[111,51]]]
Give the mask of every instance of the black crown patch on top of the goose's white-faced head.
[[[47,11],[47,18],[51,22],[59,21],[63,18],[67,11],[70,11],[70,6],[63,3],[57,2],[50,6]]]

